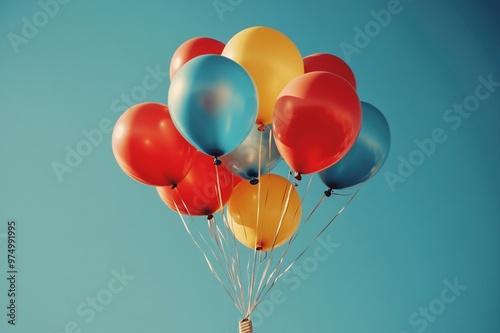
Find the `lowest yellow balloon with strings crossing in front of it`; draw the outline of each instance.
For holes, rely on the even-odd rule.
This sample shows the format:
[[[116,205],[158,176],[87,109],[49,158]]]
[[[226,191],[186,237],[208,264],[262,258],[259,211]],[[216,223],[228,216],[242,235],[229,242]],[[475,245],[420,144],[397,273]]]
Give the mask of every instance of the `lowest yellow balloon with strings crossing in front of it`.
[[[259,183],[242,181],[236,185],[227,215],[238,241],[249,248],[267,251],[283,245],[295,233],[302,203],[295,186],[286,178],[268,174]]]

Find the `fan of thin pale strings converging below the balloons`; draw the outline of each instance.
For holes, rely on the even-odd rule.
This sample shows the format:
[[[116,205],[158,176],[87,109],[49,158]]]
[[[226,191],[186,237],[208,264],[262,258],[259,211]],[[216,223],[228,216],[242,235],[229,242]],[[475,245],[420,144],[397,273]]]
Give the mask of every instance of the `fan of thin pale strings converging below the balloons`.
[[[260,166],[262,163],[262,135],[263,132],[261,132],[259,145],[258,179],[261,177]],[[270,132],[269,135],[271,136],[272,132]],[[271,138],[269,138],[268,142],[269,145],[271,145]],[[271,154],[271,147],[269,147],[268,152]],[[193,240],[195,246],[202,253],[210,272],[221,284],[243,318],[248,319],[252,311],[254,311],[255,308],[265,299],[266,295],[275,287],[279,279],[290,271],[290,269],[307,253],[307,251],[325,233],[333,222],[336,221],[339,215],[352,202],[359,189],[348,194],[338,194],[331,190],[325,191],[313,206],[307,217],[300,223],[298,229],[292,237],[282,246],[275,247],[274,245],[276,244],[276,240],[279,236],[281,224],[284,218],[283,213],[281,215],[276,234],[274,235],[273,246],[270,250],[264,252],[257,249],[257,244],[253,249],[243,246],[232,233],[231,223],[234,222],[232,219],[227,218],[221,197],[221,185],[218,170],[220,166],[214,163],[214,167],[217,176],[216,193],[218,195],[218,202],[220,205],[220,210],[216,213],[218,218],[216,215],[209,215],[206,222],[201,223],[199,218],[181,214],[181,209],[177,206],[177,204],[174,204],[188,235]],[[290,180],[290,174],[291,172],[288,174],[288,180]],[[313,177],[313,175],[309,176],[309,181],[307,182],[305,191],[301,196],[302,203],[304,203],[306,197],[308,196]],[[260,221],[260,196],[265,195],[266,189],[261,188],[261,182],[258,182],[253,186],[258,186],[259,197],[257,202],[259,203],[259,206],[257,207],[257,221]],[[288,210],[290,193],[294,186],[299,185],[292,184],[292,182],[290,182],[288,189],[283,193],[282,207],[284,207],[284,212]],[[177,189],[174,190],[177,191]],[[319,232],[317,232],[311,240],[305,243],[305,246],[304,244],[297,244],[297,239],[299,239],[305,232],[304,230],[310,225],[310,220],[313,219],[313,217],[315,219],[325,219],[324,217],[318,218],[316,215],[318,215],[320,206],[323,205],[325,199],[330,197],[331,194],[338,197],[346,196],[348,200],[333,215],[333,217],[331,217],[323,225]],[[182,204],[184,206],[182,207],[184,208],[184,211],[189,211],[186,204],[184,202],[182,202]],[[257,222],[256,226],[257,230],[259,230],[258,223],[259,222]],[[285,259],[287,258],[287,255],[290,256],[291,250],[295,247],[301,247],[302,251],[298,252],[298,254],[294,254],[292,259],[286,262]]]

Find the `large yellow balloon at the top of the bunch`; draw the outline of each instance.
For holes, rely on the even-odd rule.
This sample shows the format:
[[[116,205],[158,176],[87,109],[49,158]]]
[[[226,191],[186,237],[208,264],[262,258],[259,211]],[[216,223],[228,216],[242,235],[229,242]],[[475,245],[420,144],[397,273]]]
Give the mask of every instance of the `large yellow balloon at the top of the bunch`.
[[[240,64],[254,80],[259,95],[259,125],[272,122],[279,93],[288,82],[304,74],[304,62],[295,44],[267,27],[240,31],[227,42],[222,55]]]

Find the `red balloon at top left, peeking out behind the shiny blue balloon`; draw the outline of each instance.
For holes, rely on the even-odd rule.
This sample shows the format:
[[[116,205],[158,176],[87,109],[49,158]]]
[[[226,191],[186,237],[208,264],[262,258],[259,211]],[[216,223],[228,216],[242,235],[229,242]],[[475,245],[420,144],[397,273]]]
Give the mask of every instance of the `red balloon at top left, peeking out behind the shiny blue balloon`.
[[[181,44],[174,52],[172,60],[170,60],[170,81],[175,76],[175,73],[189,60],[204,54],[222,53],[224,43],[209,37],[191,38]]]

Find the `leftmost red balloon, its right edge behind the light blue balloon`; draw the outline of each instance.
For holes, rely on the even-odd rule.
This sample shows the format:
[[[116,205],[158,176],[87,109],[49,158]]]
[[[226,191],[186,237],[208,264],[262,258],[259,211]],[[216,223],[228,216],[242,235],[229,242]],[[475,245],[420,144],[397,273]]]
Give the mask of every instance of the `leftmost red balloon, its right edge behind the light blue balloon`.
[[[153,186],[179,183],[196,154],[175,128],[168,107],[158,103],[141,103],[125,111],[113,129],[112,147],[127,175]]]

